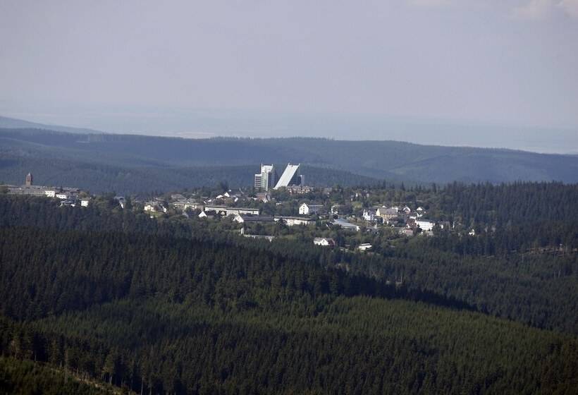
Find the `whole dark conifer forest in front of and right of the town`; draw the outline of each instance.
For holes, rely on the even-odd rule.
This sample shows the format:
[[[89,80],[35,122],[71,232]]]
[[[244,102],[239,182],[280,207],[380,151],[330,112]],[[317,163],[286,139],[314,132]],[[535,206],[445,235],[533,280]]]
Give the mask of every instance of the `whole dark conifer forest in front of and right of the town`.
[[[476,234],[359,254],[0,195],[0,389],[575,393],[577,186],[375,188]]]

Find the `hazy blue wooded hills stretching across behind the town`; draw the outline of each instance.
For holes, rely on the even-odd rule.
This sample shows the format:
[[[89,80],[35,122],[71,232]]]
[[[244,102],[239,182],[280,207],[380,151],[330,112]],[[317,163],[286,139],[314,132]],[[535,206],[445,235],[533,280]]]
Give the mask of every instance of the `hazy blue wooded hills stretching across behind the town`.
[[[578,181],[573,155],[395,141],[183,139],[4,128],[0,153],[0,179],[6,182],[20,182],[33,171],[46,183],[92,183],[92,190],[135,193],[219,181],[247,186],[260,163],[288,162],[304,165],[310,185]],[[134,186],[128,188],[129,182]]]

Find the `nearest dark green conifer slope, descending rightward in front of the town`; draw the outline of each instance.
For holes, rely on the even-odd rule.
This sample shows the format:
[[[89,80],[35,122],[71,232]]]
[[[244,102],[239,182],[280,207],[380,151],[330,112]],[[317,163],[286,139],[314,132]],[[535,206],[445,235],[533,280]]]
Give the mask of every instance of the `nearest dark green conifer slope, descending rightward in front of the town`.
[[[388,284],[367,273],[388,266],[376,255],[246,241],[226,222],[157,221],[106,200],[0,197],[0,210],[4,356],[149,394],[576,388],[575,336]],[[524,286],[516,277],[505,283]]]

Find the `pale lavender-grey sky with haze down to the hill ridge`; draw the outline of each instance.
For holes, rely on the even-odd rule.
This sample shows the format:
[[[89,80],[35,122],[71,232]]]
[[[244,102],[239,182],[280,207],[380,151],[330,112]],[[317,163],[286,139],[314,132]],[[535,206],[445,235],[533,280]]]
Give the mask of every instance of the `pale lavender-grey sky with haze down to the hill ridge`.
[[[1,0],[0,115],[576,153],[578,0]]]

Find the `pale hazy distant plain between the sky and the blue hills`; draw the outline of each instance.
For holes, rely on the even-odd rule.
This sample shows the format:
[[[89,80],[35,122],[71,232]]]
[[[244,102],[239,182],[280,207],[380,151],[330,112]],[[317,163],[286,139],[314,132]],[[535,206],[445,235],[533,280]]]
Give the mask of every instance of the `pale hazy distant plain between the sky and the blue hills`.
[[[223,114],[219,117],[218,114]],[[167,138],[326,138],[343,141],[395,141],[444,147],[472,147],[519,150],[539,154],[578,154],[578,130],[500,124],[495,122],[425,119],[417,116],[379,116],[359,114],[288,114],[272,111],[180,111],[179,116],[142,114],[119,117],[78,117],[66,121],[65,115],[39,114],[27,118],[18,113],[0,114],[7,119],[40,123],[54,128],[94,130],[95,133],[146,135]],[[152,120],[158,119],[156,122]],[[117,127],[111,125],[115,124]],[[168,123],[173,130],[166,130]],[[187,124],[192,124],[187,128]],[[0,126],[1,127],[1,126]],[[350,130],[362,129],[355,135]],[[193,131],[196,129],[204,131]],[[293,133],[292,130],[304,130]],[[474,133],[463,133],[468,130]],[[333,135],[331,135],[333,131]],[[292,134],[293,133],[293,134]],[[433,136],[431,135],[433,134]],[[484,145],[483,138],[488,142]]]

